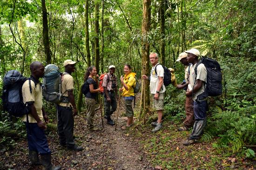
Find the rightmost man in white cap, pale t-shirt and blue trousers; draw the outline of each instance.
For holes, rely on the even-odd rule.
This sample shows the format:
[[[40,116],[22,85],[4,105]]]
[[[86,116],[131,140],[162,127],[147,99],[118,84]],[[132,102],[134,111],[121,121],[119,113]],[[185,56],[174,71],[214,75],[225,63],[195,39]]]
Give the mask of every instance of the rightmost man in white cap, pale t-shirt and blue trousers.
[[[196,141],[202,136],[203,129],[206,126],[207,118],[206,111],[208,109],[207,106],[207,98],[203,98],[199,100],[197,98],[198,95],[202,94],[206,87],[207,81],[207,71],[204,64],[197,64],[198,57],[200,52],[192,48],[189,51],[185,51],[188,53],[188,62],[192,65],[190,66],[190,77],[189,77],[189,90],[186,92],[186,96],[192,97],[193,105],[194,105],[194,116],[195,116],[195,124],[192,133],[189,135],[186,141],[183,141],[183,145],[195,144]]]

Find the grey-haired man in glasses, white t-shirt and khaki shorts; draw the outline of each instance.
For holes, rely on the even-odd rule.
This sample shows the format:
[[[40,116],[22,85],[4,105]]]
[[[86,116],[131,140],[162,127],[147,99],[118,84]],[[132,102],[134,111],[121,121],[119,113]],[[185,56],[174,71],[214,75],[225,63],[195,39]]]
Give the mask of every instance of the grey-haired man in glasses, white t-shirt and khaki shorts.
[[[146,75],[142,75],[142,78],[150,80],[150,84],[149,84],[150,93],[153,96],[154,107],[157,111],[157,122],[152,123],[152,125],[155,126],[152,132],[156,132],[162,128],[161,122],[162,122],[162,115],[163,115],[163,102],[164,102],[163,98],[164,98],[164,92],[165,92],[165,86],[163,84],[164,69],[162,65],[160,65],[158,62],[158,54],[156,52],[150,53],[149,59],[150,59],[150,63],[153,66],[150,72],[150,79]]]

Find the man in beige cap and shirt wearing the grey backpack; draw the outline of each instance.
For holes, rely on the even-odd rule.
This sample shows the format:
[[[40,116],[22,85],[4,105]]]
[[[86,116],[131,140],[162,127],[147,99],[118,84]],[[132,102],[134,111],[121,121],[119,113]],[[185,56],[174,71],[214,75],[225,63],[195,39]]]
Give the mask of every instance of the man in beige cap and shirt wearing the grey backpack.
[[[74,79],[71,73],[74,72],[74,61],[67,59],[64,61],[65,72],[61,77],[61,92],[63,100],[57,105],[58,110],[58,133],[60,145],[66,146],[69,150],[83,150],[83,147],[78,146],[74,142],[74,116],[77,115],[76,104],[74,101]]]

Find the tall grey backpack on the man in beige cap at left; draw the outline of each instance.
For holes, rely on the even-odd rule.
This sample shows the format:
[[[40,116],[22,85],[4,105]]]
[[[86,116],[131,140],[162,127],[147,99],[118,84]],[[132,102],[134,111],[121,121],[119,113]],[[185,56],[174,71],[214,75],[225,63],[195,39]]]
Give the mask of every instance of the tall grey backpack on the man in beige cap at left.
[[[63,96],[65,92],[61,92],[61,77],[67,73],[61,73],[59,67],[49,64],[44,69],[42,93],[43,97],[52,103],[69,103],[67,97]]]

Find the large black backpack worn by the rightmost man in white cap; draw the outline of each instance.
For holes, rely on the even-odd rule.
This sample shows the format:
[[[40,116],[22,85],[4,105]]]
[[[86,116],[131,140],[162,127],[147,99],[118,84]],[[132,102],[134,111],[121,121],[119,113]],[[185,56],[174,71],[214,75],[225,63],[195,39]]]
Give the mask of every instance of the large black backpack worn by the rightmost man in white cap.
[[[197,100],[202,100],[208,96],[219,96],[222,94],[222,72],[220,64],[208,57],[202,57],[195,65],[195,81],[197,76],[197,67],[199,64],[204,64],[207,71],[207,82],[204,82],[206,88],[204,92],[197,96]]]

